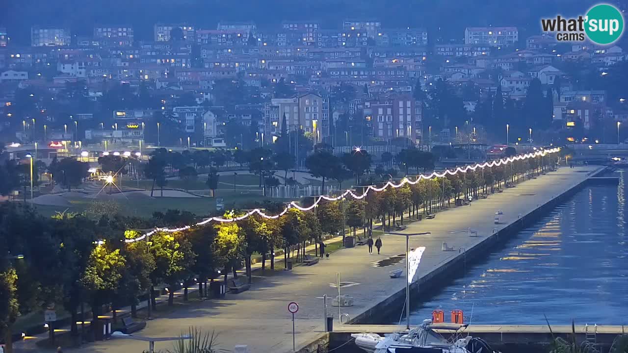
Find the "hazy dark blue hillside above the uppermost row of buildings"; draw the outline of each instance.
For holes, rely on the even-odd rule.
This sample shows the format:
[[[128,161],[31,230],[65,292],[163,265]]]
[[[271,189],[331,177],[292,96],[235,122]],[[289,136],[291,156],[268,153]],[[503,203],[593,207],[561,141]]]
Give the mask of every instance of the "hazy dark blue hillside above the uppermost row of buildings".
[[[619,0],[610,1],[617,3]],[[384,27],[422,26],[445,39],[462,39],[466,26],[515,25],[520,36],[538,33],[541,16],[585,12],[593,0],[6,0],[0,26],[12,40],[30,43],[33,24],[65,24],[77,35],[94,23],[132,24],[138,40],[156,22],[214,28],[218,21],[254,21],[261,28],[284,19],[315,19],[340,26],[347,18],[373,18]],[[436,37],[438,35],[434,35]]]

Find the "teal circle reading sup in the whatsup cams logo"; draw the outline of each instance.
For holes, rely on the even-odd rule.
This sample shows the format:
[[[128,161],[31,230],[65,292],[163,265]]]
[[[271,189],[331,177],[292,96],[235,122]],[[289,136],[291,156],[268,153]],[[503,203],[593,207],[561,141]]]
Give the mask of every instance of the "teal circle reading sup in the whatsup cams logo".
[[[597,44],[610,44],[619,39],[624,31],[624,17],[619,9],[608,4],[593,6],[587,12],[585,32]]]

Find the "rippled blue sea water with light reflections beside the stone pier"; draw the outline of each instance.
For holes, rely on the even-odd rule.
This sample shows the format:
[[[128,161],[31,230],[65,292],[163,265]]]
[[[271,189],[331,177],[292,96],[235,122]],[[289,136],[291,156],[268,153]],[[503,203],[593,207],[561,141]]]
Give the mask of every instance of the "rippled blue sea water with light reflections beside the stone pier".
[[[484,263],[468,268],[411,313],[462,309],[465,322],[627,324],[628,239],[625,184],[587,187],[519,232]],[[472,313],[473,308],[473,313]],[[471,317],[471,315],[473,315]]]

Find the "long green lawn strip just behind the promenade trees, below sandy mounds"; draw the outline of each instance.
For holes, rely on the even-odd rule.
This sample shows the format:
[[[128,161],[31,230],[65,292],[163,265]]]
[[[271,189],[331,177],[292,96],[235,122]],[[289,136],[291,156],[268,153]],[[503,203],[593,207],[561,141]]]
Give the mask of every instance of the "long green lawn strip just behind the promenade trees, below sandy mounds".
[[[97,200],[112,200],[116,202],[120,208],[121,213],[125,215],[133,215],[138,217],[151,217],[153,212],[160,211],[165,212],[168,209],[180,209],[187,210],[196,215],[208,215],[216,209],[216,198],[224,199],[225,209],[231,209],[234,207],[240,207],[241,205],[248,204],[254,201],[263,201],[268,198],[263,197],[260,193],[256,192],[244,192],[233,190],[219,190],[216,193],[216,197],[159,197],[159,190],[155,190],[154,197],[148,197],[146,195],[127,195],[127,198],[121,195],[109,196],[105,195]],[[51,206],[51,205],[36,205],[36,209],[43,215],[53,215],[55,212],[63,212],[68,209],[68,212],[82,212],[88,209],[93,204],[92,198],[68,198],[70,201],[70,207],[66,206]],[[282,199],[273,199],[282,201]]]

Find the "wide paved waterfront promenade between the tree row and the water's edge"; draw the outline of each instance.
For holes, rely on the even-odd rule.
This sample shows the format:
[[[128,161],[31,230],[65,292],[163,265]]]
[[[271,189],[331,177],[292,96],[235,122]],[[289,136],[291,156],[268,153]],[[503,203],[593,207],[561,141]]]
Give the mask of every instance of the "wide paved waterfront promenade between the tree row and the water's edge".
[[[520,183],[515,188],[495,193],[487,199],[475,200],[472,205],[439,212],[435,219],[414,222],[406,232],[430,231],[428,236],[411,237],[410,246],[426,246],[418,276],[425,276],[441,264],[459,256],[457,252],[442,252],[441,244],[470,249],[487,237],[492,229],[494,212],[501,209],[502,224],[498,229],[528,214],[558,193],[577,185],[587,178],[595,166],[578,166]],[[479,232],[479,237],[468,237],[467,228]],[[254,276],[251,290],[227,295],[221,300],[209,300],[171,313],[148,323],[142,335],[171,336],[187,331],[190,326],[216,330],[220,347],[233,349],[236,344],[247,344],[251,353],[290,352],[292,350],[292,323],[287,305],[296,301],[300,310],[296,314],[296,341],[303,345],[315,340],[323,330],[322,296],[333,297],[335,282],[340,272],[341,281],[355,283],[342,287],[342,294],[354,297],[355,305],[342,308],[343,313],[356,317],[379,301],[404,288],[403,278],[391,279],[388,271],[393,267],[377,268],[374,262],[405,251],[402,236],[382,237],[382,254],[369,254],[367,248],[342,249],[314,266],[299,266],[293,271],[279,271],[271,277]],[[338,315],[338,309],[329,307]],[[401,308],[399,308],[401,313]],[[337,318],[336,318],[336,325]],[[145,342],[112,339],[97,342],[80,352],[141,352]],[[156,344],[156,349],[170,349],[171,344]],[[65,350],[72,351],[72,350]]]

